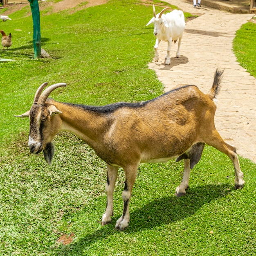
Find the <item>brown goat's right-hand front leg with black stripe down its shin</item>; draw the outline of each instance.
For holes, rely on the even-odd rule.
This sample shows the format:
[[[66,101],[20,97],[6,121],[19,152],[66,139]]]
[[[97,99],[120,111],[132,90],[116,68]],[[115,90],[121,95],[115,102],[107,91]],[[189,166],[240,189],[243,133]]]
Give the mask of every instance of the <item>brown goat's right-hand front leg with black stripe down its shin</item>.
[[[130,213],[129,213],[129,202],[132,195],[132,187],[134,185],[136,175],[137,175],[138,166],[130,166],[129,168],[124,168],[126,181],[124,186],[124,191],[122,193],[122,198],[124,201],[124,209],[122,216],[117,220],[116,229],[120,231],[124,230],[128,223],[130,222]]]

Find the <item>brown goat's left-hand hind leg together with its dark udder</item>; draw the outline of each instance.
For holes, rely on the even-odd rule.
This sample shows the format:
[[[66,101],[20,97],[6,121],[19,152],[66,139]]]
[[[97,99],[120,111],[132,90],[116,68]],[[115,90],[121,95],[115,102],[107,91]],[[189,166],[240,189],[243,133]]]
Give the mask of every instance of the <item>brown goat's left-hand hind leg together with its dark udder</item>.
[[[201,159],[203,150],[204,143],[198,142],[193,144],[185,153],[177,157],[176,162],[179,162],[182,159],[184,162],[182,182],[180,183],[180,186],[177,186],[175,191],[175,195],[177,195],[177,197],[181,197],[186,194],[186,189],[189,188],[190,170],[193,169],[195,164],[197,164]]]

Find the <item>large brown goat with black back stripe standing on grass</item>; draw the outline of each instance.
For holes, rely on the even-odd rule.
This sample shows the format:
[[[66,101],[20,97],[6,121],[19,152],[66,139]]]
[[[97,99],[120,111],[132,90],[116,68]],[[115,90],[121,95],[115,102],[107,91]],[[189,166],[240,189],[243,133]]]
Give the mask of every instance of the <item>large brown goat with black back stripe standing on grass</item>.
[[[206,143],[232,160],[235,188],[240,189],[245,184],[236,148],[223,141],[214,125],[216,104],[213,100],[220,88],[222,73],[216,70],[208,94],[195,85],[185,85],[149,101],[99,107],[47,99],[53,90],[65,83],[49,86],[41,94],[47,85],[44,83],[38,88],[31,109],[18,117],[30,117],[30,151],[38,154],[43,150],[49,164],[54,155],[52,139],[59,130],[79,136],[107,163],[107,208],[101,219],[102,225],[111,222],[117,172],[119,167],[124,169],[124,209],[115,226],[123,230],[130,221],[129,201],[140,163],[183,159],[183,179],[176,188],[179,197],[185,195],[190,170],[200,160]]]

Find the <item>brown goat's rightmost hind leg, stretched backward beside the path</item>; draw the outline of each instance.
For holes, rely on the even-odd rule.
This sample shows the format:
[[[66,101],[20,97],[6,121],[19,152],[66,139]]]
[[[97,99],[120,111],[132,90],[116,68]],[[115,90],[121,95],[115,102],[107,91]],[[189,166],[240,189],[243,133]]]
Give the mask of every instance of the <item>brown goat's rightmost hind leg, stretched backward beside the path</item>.
[[[217,130],[213,132],[212,137],[208,137],[206,143],[218,149],[220,152],[225,153],[231,159],[235,169],[235,189],[243,188],[245,184],[245,181],[243,180],[244,174],[240,169],[236,148],[225,142],[222,137],[220,137]]]

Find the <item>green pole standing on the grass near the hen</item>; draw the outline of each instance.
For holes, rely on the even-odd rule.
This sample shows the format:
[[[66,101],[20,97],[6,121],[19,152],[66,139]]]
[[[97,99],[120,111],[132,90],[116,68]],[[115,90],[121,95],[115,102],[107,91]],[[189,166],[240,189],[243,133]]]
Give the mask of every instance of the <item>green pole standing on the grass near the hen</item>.
[[[38,0],[28,0],[33,19],[33,45],[34,58],[41,58],[41,32],[40,32],[40,11]]]

